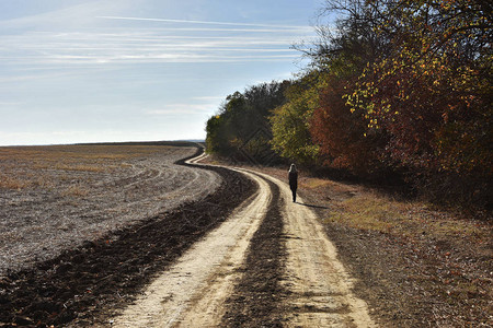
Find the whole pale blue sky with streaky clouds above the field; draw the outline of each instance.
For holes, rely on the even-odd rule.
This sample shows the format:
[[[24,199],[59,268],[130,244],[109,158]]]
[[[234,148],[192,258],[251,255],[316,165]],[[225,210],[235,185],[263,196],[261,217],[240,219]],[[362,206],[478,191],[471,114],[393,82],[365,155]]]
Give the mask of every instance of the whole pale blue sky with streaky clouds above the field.
[[[0,0],[0,145],[204,139],[302,67],[321,0]]]

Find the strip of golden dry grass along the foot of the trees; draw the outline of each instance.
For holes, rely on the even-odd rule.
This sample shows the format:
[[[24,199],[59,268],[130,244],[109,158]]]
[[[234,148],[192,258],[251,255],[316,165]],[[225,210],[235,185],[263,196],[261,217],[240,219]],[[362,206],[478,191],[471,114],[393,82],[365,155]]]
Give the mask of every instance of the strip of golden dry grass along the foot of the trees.
[[[363,187],[311,177],[305,178],[301,187],[332,196],[331,210],[324,216],[326,223],[411,238],[427,234],[436,239],[460,237],[482,242],[491,236],[481,222],[436,210],[421,201],[395,200]]]

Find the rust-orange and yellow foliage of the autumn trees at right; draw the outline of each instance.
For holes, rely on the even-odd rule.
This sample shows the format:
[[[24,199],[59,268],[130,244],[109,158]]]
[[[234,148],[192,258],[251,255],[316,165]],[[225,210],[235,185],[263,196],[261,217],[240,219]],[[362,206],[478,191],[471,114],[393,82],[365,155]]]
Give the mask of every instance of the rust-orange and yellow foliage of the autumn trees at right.
[[[359,2],[358,10],[364,12],[369,3]],[[391,8],[381,4],[381,15],[348,14],[342,20],[358,20],[362,30],[348,27],[340,33],[344,40],[354,38],[348,32],[355,33],[358,46],[372,50],[370,55],[364,50],[355,55],[354,47],[344,46],[334,49],[342,57],[322,55],[329,71],[333,58],[337,68],[347,59],[360,62],[345,66],[357,79],[352,80],[351,73],[339,75],[346,77],[343,83],[348,85],[342,89],[343,103],[329,95],[333,91],[323,95],[326,101],[316,109],[311,128],[314,141],[330,159],[344,156],[337,163],[349,166],[357,165],[365,155],[364,145],[374,142],[386,163],[422,175],[490,174],[485,163],[493,161],[489,151],[493,129],[491,13],[479,1],[391,3]],[[365,24],[371,28],[365,30]],[[367,35],[358,35],[362,31],[380,47],[365,44]]]

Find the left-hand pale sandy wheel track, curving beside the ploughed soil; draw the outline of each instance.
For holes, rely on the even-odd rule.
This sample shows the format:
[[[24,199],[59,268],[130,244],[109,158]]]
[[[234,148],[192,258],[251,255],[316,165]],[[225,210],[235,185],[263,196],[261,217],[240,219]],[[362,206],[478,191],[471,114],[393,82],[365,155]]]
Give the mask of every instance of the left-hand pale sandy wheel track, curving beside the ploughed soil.
[[[159,276],[115,318],[113,327],[214,327],[220,323],[236,271],[270,201],[265,180],[246,175],[259,184],[259,191]]]

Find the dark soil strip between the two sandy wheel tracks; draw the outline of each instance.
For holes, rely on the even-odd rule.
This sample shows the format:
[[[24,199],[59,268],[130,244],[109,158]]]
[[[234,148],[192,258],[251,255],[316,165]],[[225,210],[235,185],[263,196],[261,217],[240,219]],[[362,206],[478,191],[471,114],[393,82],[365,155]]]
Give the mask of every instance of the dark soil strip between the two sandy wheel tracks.
[[[268,181],[273,198],[268,212],[251,239],[240,269],[241,280],[227,300],[221,327],[283,327],[282,286],[286,247],[283,241],[279,188]]]

